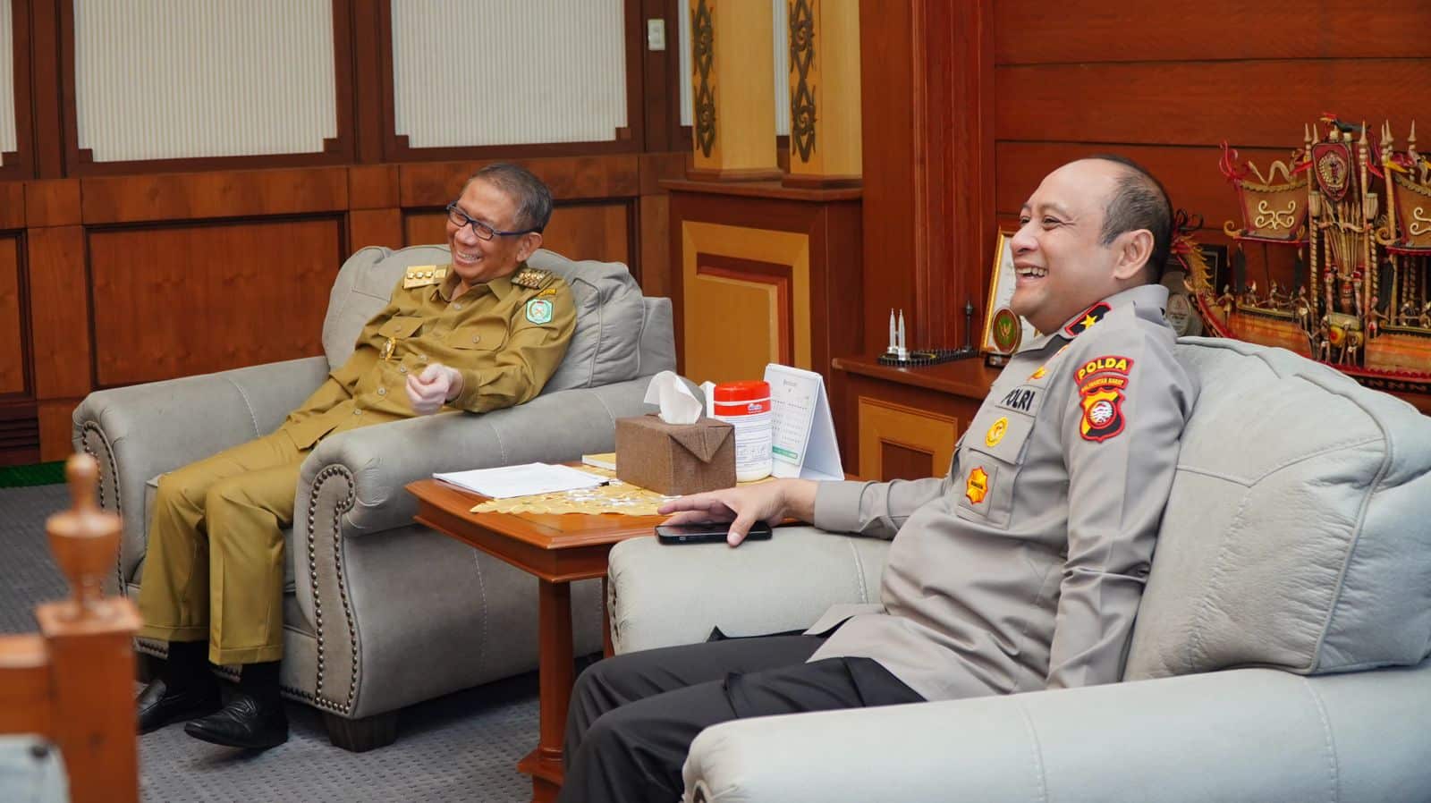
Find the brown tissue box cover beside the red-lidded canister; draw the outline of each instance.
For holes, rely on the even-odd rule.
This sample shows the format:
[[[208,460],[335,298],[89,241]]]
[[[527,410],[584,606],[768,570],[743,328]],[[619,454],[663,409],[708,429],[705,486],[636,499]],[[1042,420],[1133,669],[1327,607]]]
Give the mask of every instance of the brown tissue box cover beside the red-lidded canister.
[[[617,477],[667,497],[736,485],[736,428],[701,418],[667,424],[658,415],[617,418]]]

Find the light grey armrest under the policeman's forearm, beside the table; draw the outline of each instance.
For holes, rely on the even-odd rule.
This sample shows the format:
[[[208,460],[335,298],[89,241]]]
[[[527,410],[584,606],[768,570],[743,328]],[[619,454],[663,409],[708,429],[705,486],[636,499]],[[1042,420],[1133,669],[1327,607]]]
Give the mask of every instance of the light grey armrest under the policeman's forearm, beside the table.
[[[608,608],[617,653],[727,636],[803,630],[839,603],[877,603],[889,541],[777,527],[770,541],[611,550]]]

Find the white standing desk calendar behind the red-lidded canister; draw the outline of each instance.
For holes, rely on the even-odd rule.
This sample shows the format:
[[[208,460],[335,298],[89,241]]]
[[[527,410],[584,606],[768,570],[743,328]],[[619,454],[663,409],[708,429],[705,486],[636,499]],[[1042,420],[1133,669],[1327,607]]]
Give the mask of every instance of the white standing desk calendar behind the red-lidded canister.
[[[770,382],[770,408],[776,477],[804,480],[844,480],[840,445],[834,438],[834,417],[824,378],[771,362],[766,366]]]

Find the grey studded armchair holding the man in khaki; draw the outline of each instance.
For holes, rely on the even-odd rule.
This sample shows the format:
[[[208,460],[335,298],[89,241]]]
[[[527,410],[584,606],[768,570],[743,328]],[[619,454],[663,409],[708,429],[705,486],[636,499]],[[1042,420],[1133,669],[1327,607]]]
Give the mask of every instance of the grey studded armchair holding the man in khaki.
[[[100,462],[104,508],[123,514],[116,581],[136,594],[157,477],[273,431],[352,354],[402,271],[445,263],[445,246],[365,248],[339,271],[323,356],[92,394],[74,445]],[[439,414],[343,432],[303,464],[289,534],[282,683],[325,711],[335,744],[396,737],[404,706],[537,666],[537,583],[412,522],[404,485],[435,471],[577,459],[614,448],[614,419],[641,415],[648,376],[675,368],[668,299],[643,298],[620,263],[538,250],[562,275],[577,329],[557,374],[528,404]],[[572,588],[578,654],[601,648],[601,590]],[[160,656],[165,646],[140,641]]]

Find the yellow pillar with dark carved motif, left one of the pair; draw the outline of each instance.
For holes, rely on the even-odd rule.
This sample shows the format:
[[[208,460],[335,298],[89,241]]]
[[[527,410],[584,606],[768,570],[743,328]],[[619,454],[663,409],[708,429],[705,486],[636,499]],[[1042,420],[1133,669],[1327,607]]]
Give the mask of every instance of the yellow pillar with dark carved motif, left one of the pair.
[[[693,179],[768,180],[776,165],[774,31],[770,6],[687,0],[695,119]]]

